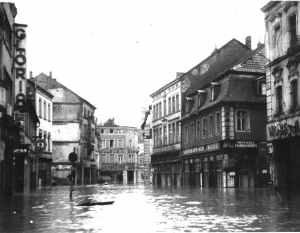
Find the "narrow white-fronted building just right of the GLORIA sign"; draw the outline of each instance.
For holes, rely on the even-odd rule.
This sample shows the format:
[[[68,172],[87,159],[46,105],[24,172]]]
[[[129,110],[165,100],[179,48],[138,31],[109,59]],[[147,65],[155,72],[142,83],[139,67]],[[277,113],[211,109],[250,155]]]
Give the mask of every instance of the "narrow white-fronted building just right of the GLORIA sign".
[[[27,82],[35,87],[35,109],[40,122],[35,138],[38,157],[37,186],[48,186],[51,185],[53,95],[37,85],[35,80]]]

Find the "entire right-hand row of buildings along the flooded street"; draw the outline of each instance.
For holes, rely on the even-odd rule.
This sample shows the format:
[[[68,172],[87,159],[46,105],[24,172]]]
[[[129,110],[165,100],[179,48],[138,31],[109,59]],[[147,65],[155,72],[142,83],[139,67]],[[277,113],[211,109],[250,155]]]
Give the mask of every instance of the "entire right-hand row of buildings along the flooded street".
[[[265,45],[232,39],[151,94],[154,184],[300,187],[299,9],[266,4]]]

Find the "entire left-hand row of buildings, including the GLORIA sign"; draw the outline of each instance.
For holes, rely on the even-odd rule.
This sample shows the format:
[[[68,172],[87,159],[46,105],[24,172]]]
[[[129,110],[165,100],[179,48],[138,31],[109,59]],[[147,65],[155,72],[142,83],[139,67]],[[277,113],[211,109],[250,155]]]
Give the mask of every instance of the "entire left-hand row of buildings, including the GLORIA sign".
[[[67,184],[72,152],[75,183],[95,183],[96,107],[51,72],[27,77],[27,25],[15,23],[16,15],[13,3],[0,3],[0,192]]]

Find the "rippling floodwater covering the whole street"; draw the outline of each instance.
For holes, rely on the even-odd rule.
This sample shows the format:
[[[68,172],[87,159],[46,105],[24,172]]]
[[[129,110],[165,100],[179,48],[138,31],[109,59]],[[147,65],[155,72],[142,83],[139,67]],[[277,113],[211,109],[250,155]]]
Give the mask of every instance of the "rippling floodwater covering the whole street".
[[[299,196],[299,195],[298,195]],[[271,189],[52,187],[0,198],[0,232],[300,231],[300,197]],[[114,201],[82,207],[86,198]]]

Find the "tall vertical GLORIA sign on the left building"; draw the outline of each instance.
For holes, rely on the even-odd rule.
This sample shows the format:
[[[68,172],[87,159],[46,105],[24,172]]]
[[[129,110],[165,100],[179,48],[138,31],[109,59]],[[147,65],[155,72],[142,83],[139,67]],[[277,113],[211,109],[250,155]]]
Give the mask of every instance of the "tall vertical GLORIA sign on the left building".
[[[21,112],[26,103],[26,27],[14,24],[15,109]]]

